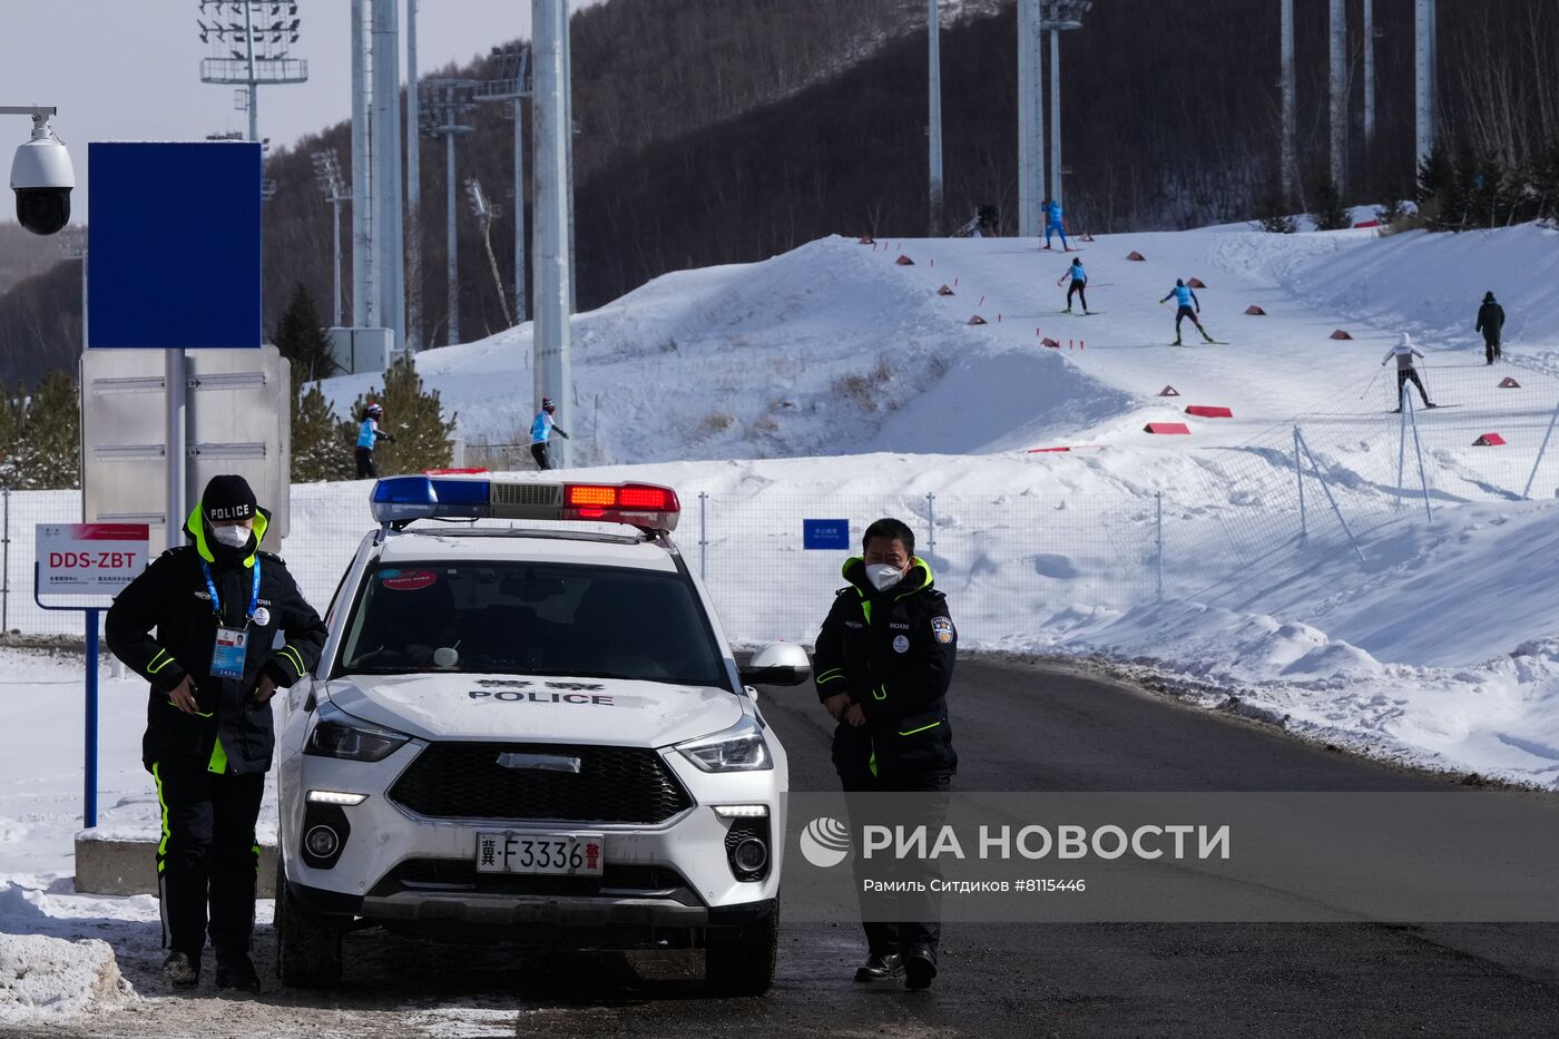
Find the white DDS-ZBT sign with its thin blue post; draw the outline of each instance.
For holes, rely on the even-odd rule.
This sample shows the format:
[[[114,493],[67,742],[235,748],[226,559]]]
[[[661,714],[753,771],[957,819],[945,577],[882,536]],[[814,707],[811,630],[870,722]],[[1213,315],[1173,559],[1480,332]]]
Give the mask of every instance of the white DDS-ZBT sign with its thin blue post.
[[[81,824],[97,825],[98,758],[98,613],[147,568],[143,523],[41,523],[36,529],[37,562],[33,563],[33,601],[44,610],[86,613],[86,750]],[[48,605],[44,596],[90,596],[87,604]]]

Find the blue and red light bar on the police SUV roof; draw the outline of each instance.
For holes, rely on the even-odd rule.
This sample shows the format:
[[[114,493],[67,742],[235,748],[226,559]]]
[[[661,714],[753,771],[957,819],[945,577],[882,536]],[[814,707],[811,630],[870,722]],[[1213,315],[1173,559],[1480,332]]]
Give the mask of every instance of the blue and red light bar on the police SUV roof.
[[[369,496],[377,523],[413,520],[580,520],[675,530],[677,491],[655,484],[521,484],[391,476]]]

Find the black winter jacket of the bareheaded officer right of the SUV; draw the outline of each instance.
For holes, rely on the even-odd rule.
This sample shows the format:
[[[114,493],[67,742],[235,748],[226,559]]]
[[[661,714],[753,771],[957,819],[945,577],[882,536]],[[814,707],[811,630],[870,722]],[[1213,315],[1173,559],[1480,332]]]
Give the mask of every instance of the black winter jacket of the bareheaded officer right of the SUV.
[[[871,587],[861,557],[845,562],[843,576],[850,585],[834,596],[812,654],[817,699],[848,693],[861,705],[879,777],[951,775],[959,757],[946,694],[959,641],[931,566],[915,557],[887,591]]]

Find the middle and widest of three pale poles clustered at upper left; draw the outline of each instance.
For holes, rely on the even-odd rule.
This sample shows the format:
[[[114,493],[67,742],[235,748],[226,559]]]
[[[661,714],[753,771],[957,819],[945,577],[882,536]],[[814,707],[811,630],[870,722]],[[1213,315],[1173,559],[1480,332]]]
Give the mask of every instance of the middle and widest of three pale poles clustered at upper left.
[[[401,195],[401,9],[374,0],[374,231],[379,326],[405,348],[405,239]]]

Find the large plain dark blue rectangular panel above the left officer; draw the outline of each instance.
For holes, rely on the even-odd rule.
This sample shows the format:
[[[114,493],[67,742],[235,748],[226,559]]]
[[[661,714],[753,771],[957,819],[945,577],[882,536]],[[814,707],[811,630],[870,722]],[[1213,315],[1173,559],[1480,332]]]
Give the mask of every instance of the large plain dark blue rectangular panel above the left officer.
[[[90,142],[90,346],[259,346],[260,145]]]

